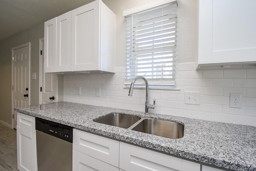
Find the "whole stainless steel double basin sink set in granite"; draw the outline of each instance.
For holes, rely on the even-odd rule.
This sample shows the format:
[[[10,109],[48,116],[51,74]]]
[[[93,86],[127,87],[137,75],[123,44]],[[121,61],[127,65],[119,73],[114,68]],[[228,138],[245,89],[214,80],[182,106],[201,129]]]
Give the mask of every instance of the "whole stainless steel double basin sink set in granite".
[[[172,121],[152,119],[122,113],[110,113],[106,116],[95,119],[94,122],[104,123],[116,127],[131,129],[166,138],[182,138],[184,125]]]

